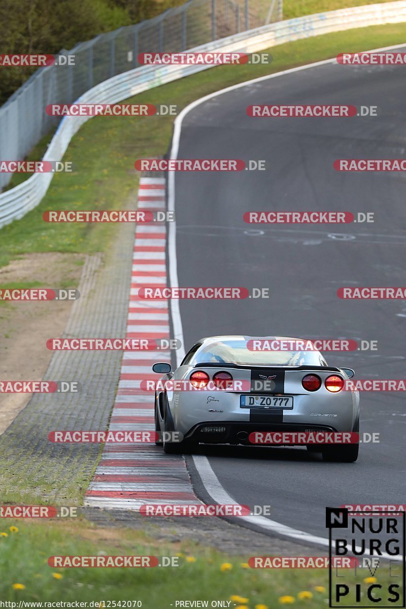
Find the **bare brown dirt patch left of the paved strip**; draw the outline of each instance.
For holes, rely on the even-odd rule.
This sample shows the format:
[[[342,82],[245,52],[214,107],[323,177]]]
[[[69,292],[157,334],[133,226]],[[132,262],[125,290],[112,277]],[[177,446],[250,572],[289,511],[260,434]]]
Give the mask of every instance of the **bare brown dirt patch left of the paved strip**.
[[[83,254],[35,253],[0,267],[0,287],[77,287]],[[19,285],[21,284],[21,286]],[[24,285],[26,284],[26,285]],[[0,303],[0,379],[38,381],[51,360],[46,341],[60,336],[72,301],[2,301]],[[31,393],[2,393],[0,435],[23,410]]]

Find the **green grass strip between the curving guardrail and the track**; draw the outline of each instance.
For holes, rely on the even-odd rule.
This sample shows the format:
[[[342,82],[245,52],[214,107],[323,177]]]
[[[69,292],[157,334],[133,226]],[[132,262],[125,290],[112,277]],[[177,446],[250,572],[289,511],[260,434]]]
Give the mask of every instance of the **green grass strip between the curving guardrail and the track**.
[[[402,43],[406,24],[366,27],[326,34],[268,49],[271,65],[225,65],[159,86],[131,97],[128,102],[177,104],[178,111],[192,100],[234,83],[293,66],[304,65],[339,52]],[[47,209],[120,209],[131,196],[133,205],[138,158],[163,155],[170,143],[173,117],[97,117],[74,136],[65,154],[75,171],[55,174],[43,201],[21,220],[0,230],[0,265],[30,252],[94,253],[108,248],[117,234],[112,224],[47,224]],[[41,144],[39,144],[41,146]],[[30,155],[32,158],[32,155]],[[37,157],[38,158],[38,157]],[[13,177],[12,186],[21,180]]]

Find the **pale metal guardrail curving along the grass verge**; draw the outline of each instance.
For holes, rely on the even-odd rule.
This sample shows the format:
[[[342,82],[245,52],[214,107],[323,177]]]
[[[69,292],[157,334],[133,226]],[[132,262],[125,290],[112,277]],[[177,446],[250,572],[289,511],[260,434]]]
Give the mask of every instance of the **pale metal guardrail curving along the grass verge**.
[[[406,0],[385,4],[369,4],[279,21],[189,50],[253,53],[301,38],[339,32],[355,27],[405,21]],[[116,104],[142,91],[211,67],[208,65],[142,66],[123,72],[94,86],[79,97],[77,103]],[[43,160],[60,161],[72,136],[89,118],[91,117],[68,116],[63,118]],[[9,224],[12,220],[23,217],[30,209],[37,206],[44,197],[53,176],[52,173],[33,174],[28,180],[1,194],[0,228]]]

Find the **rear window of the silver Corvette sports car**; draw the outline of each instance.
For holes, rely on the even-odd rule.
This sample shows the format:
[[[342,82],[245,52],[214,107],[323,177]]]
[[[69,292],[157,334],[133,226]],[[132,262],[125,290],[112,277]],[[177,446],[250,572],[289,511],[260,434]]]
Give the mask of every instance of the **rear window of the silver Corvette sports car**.
[[[320,351],[251,351],[246,340],[203,344],[189,364],[237,364],[275,366],[326,366]]]

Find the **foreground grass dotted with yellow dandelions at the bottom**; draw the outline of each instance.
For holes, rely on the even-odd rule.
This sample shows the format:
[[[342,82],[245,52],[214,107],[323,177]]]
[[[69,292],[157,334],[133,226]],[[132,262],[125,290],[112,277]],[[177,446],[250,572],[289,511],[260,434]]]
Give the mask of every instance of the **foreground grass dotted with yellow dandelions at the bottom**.
[[[18,532],[10,532],[10,526],[17,526]],[[8,536],[1,537],[1,532]],[[238,595],[248,599],[247,603],[237,600],[230,607],[254,608],[263,604],[273,608],[279,606],[279,597],[289,595],[295,597],[295,607],[318,609],[328,605],[326,569],[250,569],[246,563],[253,552],[247,552],[230,558],[192,541],[171,546],[138,530],[97,529],[82,518],[39,522],[2,519],[0,599],[141,600],[142,606],[150,609],[170,607],[171,603],[175,607],[175,601],[180,599],[230,600],[232,595]],[[166,568],[53,568],[47,564],[50,556],[102,554],[181,556],[180,566]],[[187,557],[194,561],[187,561]],[[231,569],[222,570],[225,563]],[[60,579],[55,579],[55,573]],[[380,583],[387,581],[384,567],[379,568],[377,577]],[[24,590],[14,590],[15,583],[25,586]],[[325,590],[317,591],[315,586]],[[300,600],[297,595],[304,590],[313,597]]]

